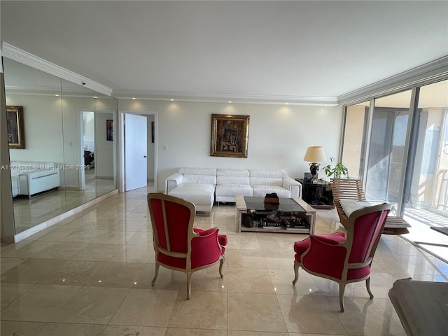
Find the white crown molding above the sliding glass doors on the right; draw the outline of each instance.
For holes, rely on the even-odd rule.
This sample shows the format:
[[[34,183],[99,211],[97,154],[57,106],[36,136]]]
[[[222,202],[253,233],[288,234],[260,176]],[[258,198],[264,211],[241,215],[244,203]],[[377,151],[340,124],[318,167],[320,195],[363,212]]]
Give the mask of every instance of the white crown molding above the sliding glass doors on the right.
[[[339,105],[350,105],[365,102],[373,97],[379,97],[398,92],[412,85],[422,85],[448,76],[448,55],[440,57],[421,66],[398,73],[384,80],[379,80],[358,90],[342,94],[338,97]]]

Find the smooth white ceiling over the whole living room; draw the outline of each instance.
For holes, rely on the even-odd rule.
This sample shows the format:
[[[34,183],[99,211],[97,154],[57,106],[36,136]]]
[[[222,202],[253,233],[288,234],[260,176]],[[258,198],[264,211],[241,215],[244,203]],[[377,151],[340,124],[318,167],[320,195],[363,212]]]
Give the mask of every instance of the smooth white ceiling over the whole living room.
[[[4,1],[1,41],[114,96],[335,99],[448,55],[448,1]]]

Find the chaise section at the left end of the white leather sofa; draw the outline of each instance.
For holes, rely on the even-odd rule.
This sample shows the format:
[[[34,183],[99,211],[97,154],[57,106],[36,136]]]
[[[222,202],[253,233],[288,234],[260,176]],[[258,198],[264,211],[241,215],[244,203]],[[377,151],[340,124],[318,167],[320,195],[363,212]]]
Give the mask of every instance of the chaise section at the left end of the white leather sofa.
[[[165,180],[165,193],[195,204],[196,211],[210,212],[214,204],[216,169],[185,167]]]

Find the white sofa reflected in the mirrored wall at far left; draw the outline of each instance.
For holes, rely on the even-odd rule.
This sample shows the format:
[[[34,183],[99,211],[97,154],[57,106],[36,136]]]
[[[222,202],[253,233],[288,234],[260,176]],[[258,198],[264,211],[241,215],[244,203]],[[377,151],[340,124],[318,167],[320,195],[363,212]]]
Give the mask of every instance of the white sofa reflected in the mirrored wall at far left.
[[[13,197],[31,197],[61,185],[59,169],[54,162],[12,161],[10,168]]]

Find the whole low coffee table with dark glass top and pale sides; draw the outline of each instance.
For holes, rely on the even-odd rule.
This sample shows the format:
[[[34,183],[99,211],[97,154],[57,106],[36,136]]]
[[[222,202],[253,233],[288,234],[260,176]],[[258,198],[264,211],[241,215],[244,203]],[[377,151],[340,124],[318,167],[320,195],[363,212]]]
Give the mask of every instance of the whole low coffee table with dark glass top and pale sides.
[[[235,196],[237,232],[314,234],[316,210],[301,198],[280,198],[278,206],[265,197]]]

